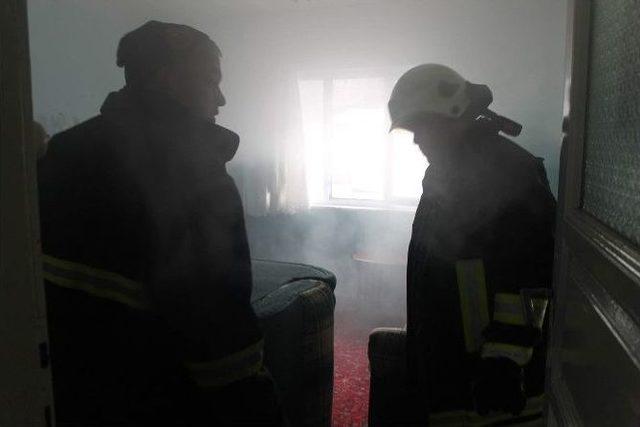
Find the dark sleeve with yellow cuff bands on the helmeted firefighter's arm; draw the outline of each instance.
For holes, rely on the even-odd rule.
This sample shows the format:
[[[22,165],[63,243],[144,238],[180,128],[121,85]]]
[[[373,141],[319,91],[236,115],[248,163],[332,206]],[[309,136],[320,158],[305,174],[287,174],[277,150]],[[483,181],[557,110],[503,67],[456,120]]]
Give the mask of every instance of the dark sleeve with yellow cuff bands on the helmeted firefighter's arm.
[[[492,291],[482,358],[506,357],[526,366],[542,343],[551,296],[555,201],[544,174],[524,187],[494,223],[487,275]]]

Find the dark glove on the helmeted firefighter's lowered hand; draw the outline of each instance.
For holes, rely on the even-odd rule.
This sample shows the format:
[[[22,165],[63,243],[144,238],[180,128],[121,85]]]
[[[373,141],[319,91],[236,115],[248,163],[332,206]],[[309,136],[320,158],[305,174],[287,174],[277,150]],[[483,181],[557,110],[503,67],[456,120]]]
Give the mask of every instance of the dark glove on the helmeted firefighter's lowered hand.
[[[492,411],[519,415],[527,402],[522,367],[506,357],[480,359],[473,383],[473,399],[480,415]]]

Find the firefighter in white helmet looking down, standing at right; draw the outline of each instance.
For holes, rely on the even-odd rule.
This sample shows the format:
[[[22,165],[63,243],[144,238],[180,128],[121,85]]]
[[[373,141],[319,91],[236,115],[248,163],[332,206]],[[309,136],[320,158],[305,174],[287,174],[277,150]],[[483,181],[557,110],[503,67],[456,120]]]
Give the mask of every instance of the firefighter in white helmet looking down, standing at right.
[[[389,101],[392,128],[429,161],[407,268],[420,425],[541,416],[555,200],[542,160],[503,136],[520,125],[491,102],[438,64],[406,72]]]

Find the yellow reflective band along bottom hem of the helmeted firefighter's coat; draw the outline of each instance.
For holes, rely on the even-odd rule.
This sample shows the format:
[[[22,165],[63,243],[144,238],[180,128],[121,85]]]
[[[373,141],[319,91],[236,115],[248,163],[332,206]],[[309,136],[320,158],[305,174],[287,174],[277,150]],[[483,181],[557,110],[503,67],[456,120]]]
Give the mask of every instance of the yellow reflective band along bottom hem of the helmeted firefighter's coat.
[[[545,404],[545,395],[536,397],[530,397],[527,399],[527,404],[518,416],[506,414],[504,412],[494,412],[488,415],[482,416],[475,411],[449,411],[449,412],[437,412],[429,415],[429,425],[431,426],[455,426],[455,427],[488,427],[493,424],[509,422],[509,425],[528,426],[538,425],[540,419],[524,420],[518,422],[523,418],[529,418],[536,415],[542,417],[542,411]]]

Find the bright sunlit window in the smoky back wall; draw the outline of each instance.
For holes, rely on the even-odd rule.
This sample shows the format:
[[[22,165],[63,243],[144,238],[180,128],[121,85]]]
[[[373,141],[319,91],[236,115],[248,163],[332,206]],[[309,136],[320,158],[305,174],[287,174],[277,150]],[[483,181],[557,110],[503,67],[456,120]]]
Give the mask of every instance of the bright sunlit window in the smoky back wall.
[[[389,133],[389,77],[300,79],[311,205],[414,206],[427,161],[408,131]]]

